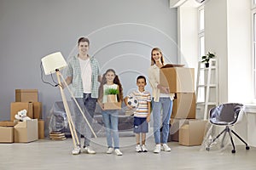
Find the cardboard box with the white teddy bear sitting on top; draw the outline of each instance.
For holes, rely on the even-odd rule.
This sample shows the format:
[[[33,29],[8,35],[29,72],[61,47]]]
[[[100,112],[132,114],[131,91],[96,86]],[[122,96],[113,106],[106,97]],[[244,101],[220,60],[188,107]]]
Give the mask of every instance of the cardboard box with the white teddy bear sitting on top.
[[[28,143],[38,140],[38,119],[18,122],[15,125],[15,142]]]

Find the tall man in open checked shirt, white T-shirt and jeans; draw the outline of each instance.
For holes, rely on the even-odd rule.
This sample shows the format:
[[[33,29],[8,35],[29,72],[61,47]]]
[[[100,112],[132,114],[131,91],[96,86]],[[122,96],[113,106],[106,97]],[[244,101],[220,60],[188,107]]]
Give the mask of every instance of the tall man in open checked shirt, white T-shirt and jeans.
[[[98,87],[101,82],[100,68],[98,61],[90,57],[88,50],[90,41],[86,37],[80,37],[78,41],[79,54],[73,56],[68,62],[67,67],[67,85],[73,85],[73,95],[79,106],[84,111],[89,123],[92,122],[96,109],[96,101],[98,98]],[[64,83],[61,86],[64,88]],[[89,154],[95,154],[96,151],[90,148],[91,131],[87,123],[84,122],[84,117],[79,111],[78,106],[73,102],[75,113],[75,126],[81,139],[81,134],[84,135],[84,151]],[[82,129],[84,127],[85,129]],[[79,142],[80,143],[80,142]],[[80,146],[73,150],[73,154],[80,153]]]

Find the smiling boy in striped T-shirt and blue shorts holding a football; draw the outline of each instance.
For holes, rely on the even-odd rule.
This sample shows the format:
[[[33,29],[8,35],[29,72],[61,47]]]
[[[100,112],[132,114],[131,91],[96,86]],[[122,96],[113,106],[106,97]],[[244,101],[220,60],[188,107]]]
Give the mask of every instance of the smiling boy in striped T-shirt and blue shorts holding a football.
[[[135,97],[138,100],[137,108],[134,111],[134,129],[133,132],[136,136],[136,151],[147,152],[145,146],[146,133],[148,133],[148,122],[150,121],[150,102],[151,96],[148,91],[145,91],[147,85],[146,78],[143,76],[137,77],[137,90],[133,91],[128,97]],[[125,104],[127,105],[127,99]],[[129,106],[131,109],[131,107]],[[142,136],[142,143],[140,143],[140,136]]]

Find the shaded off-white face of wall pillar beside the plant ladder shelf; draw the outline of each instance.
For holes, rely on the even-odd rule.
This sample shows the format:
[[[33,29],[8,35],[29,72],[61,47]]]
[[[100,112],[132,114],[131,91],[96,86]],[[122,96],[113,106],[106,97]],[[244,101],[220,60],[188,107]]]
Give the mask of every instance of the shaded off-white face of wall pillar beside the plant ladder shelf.
[[[225,0],[205,4],[205,51],[216,53],[219,72],[219,103],[228,101],[227,5]]]

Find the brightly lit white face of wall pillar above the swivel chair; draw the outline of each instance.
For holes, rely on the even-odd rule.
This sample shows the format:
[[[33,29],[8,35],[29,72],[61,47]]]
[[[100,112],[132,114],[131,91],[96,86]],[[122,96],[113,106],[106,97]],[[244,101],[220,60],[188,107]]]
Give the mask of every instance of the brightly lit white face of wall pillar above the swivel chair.
[[[228,0],[227,7],[228,101],[249,103],[253,99],[251,1]]]

